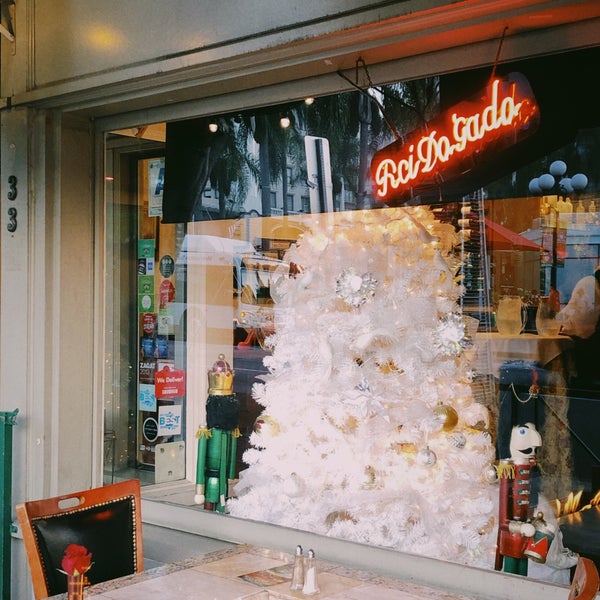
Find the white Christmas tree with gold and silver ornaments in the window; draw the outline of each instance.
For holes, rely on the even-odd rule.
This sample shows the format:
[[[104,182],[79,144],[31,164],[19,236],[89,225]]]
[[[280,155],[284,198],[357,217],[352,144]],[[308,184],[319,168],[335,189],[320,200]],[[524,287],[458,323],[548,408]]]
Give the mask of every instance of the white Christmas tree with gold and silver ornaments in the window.
[[[490,567],[494,448],[470,386],[458,236],[422,207],[336,217],[273,286],[264,412],[229,511]]]

